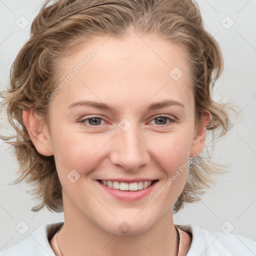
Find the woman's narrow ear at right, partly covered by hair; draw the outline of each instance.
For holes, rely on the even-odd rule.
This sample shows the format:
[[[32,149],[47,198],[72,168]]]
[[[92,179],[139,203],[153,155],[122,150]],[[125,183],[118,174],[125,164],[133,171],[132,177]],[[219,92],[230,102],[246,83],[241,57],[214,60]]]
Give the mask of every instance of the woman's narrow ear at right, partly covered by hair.
[[[195,128],[189,157],[198,155],[198,151],[202,152],[206,138],[206,125],[209,122],[210,117],[210,112],[205,109],[201,115],[201,124]]]

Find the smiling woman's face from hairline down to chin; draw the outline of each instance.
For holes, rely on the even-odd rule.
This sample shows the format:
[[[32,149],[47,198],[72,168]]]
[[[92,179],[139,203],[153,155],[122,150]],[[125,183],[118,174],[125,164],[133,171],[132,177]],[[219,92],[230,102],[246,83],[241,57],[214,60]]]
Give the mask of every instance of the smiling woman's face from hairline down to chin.
[[[107,38],[62,60],[64,85],[49,96],[48,148],[67,218],[135,234],[172,215],[205,129],[195,128],[179,45],[157,36]]]

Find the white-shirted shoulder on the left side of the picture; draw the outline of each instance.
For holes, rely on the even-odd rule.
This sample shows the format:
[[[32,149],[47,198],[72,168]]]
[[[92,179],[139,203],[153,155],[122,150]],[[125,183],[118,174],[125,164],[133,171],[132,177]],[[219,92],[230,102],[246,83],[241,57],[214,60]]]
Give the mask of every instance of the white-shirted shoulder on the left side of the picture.
[[[22,241],[0,252],[0,256],[55,256],[52,251],[48,236],[63,222],[53,222],[41,225]]]

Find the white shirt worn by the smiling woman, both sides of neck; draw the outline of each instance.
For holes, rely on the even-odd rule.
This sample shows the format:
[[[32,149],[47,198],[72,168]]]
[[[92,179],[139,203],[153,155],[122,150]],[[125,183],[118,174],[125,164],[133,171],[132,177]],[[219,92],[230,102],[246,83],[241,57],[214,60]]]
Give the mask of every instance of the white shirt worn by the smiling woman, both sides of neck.
[[[48,235],[63,222],[41,225],[28,237],[0,252],[0,256],[55,256]],[[192,242],[186,256],[250,256],[256,255],[256,242],[235,234],[210,232],[196,224],[177,225],[192,234]]]

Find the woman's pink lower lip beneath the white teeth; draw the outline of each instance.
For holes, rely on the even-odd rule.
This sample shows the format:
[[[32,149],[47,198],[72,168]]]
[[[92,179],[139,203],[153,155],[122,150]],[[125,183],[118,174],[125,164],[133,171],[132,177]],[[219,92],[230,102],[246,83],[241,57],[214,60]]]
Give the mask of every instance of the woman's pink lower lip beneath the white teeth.
[[[138,200],[146,195],[148,195],[152,189],[154,188],[155,184],[157,181],[154,181],[150,186],[148,186],[145,189],[137,190],[137,191],[127,191],[127,190],[119,190],[119,189],[114,189],[109,186],[106,186],[102,184],[100,181],[96,181],[106,192],[110,193],[114,197],[120,200],[125,200],[125,201],[135,201]]]

